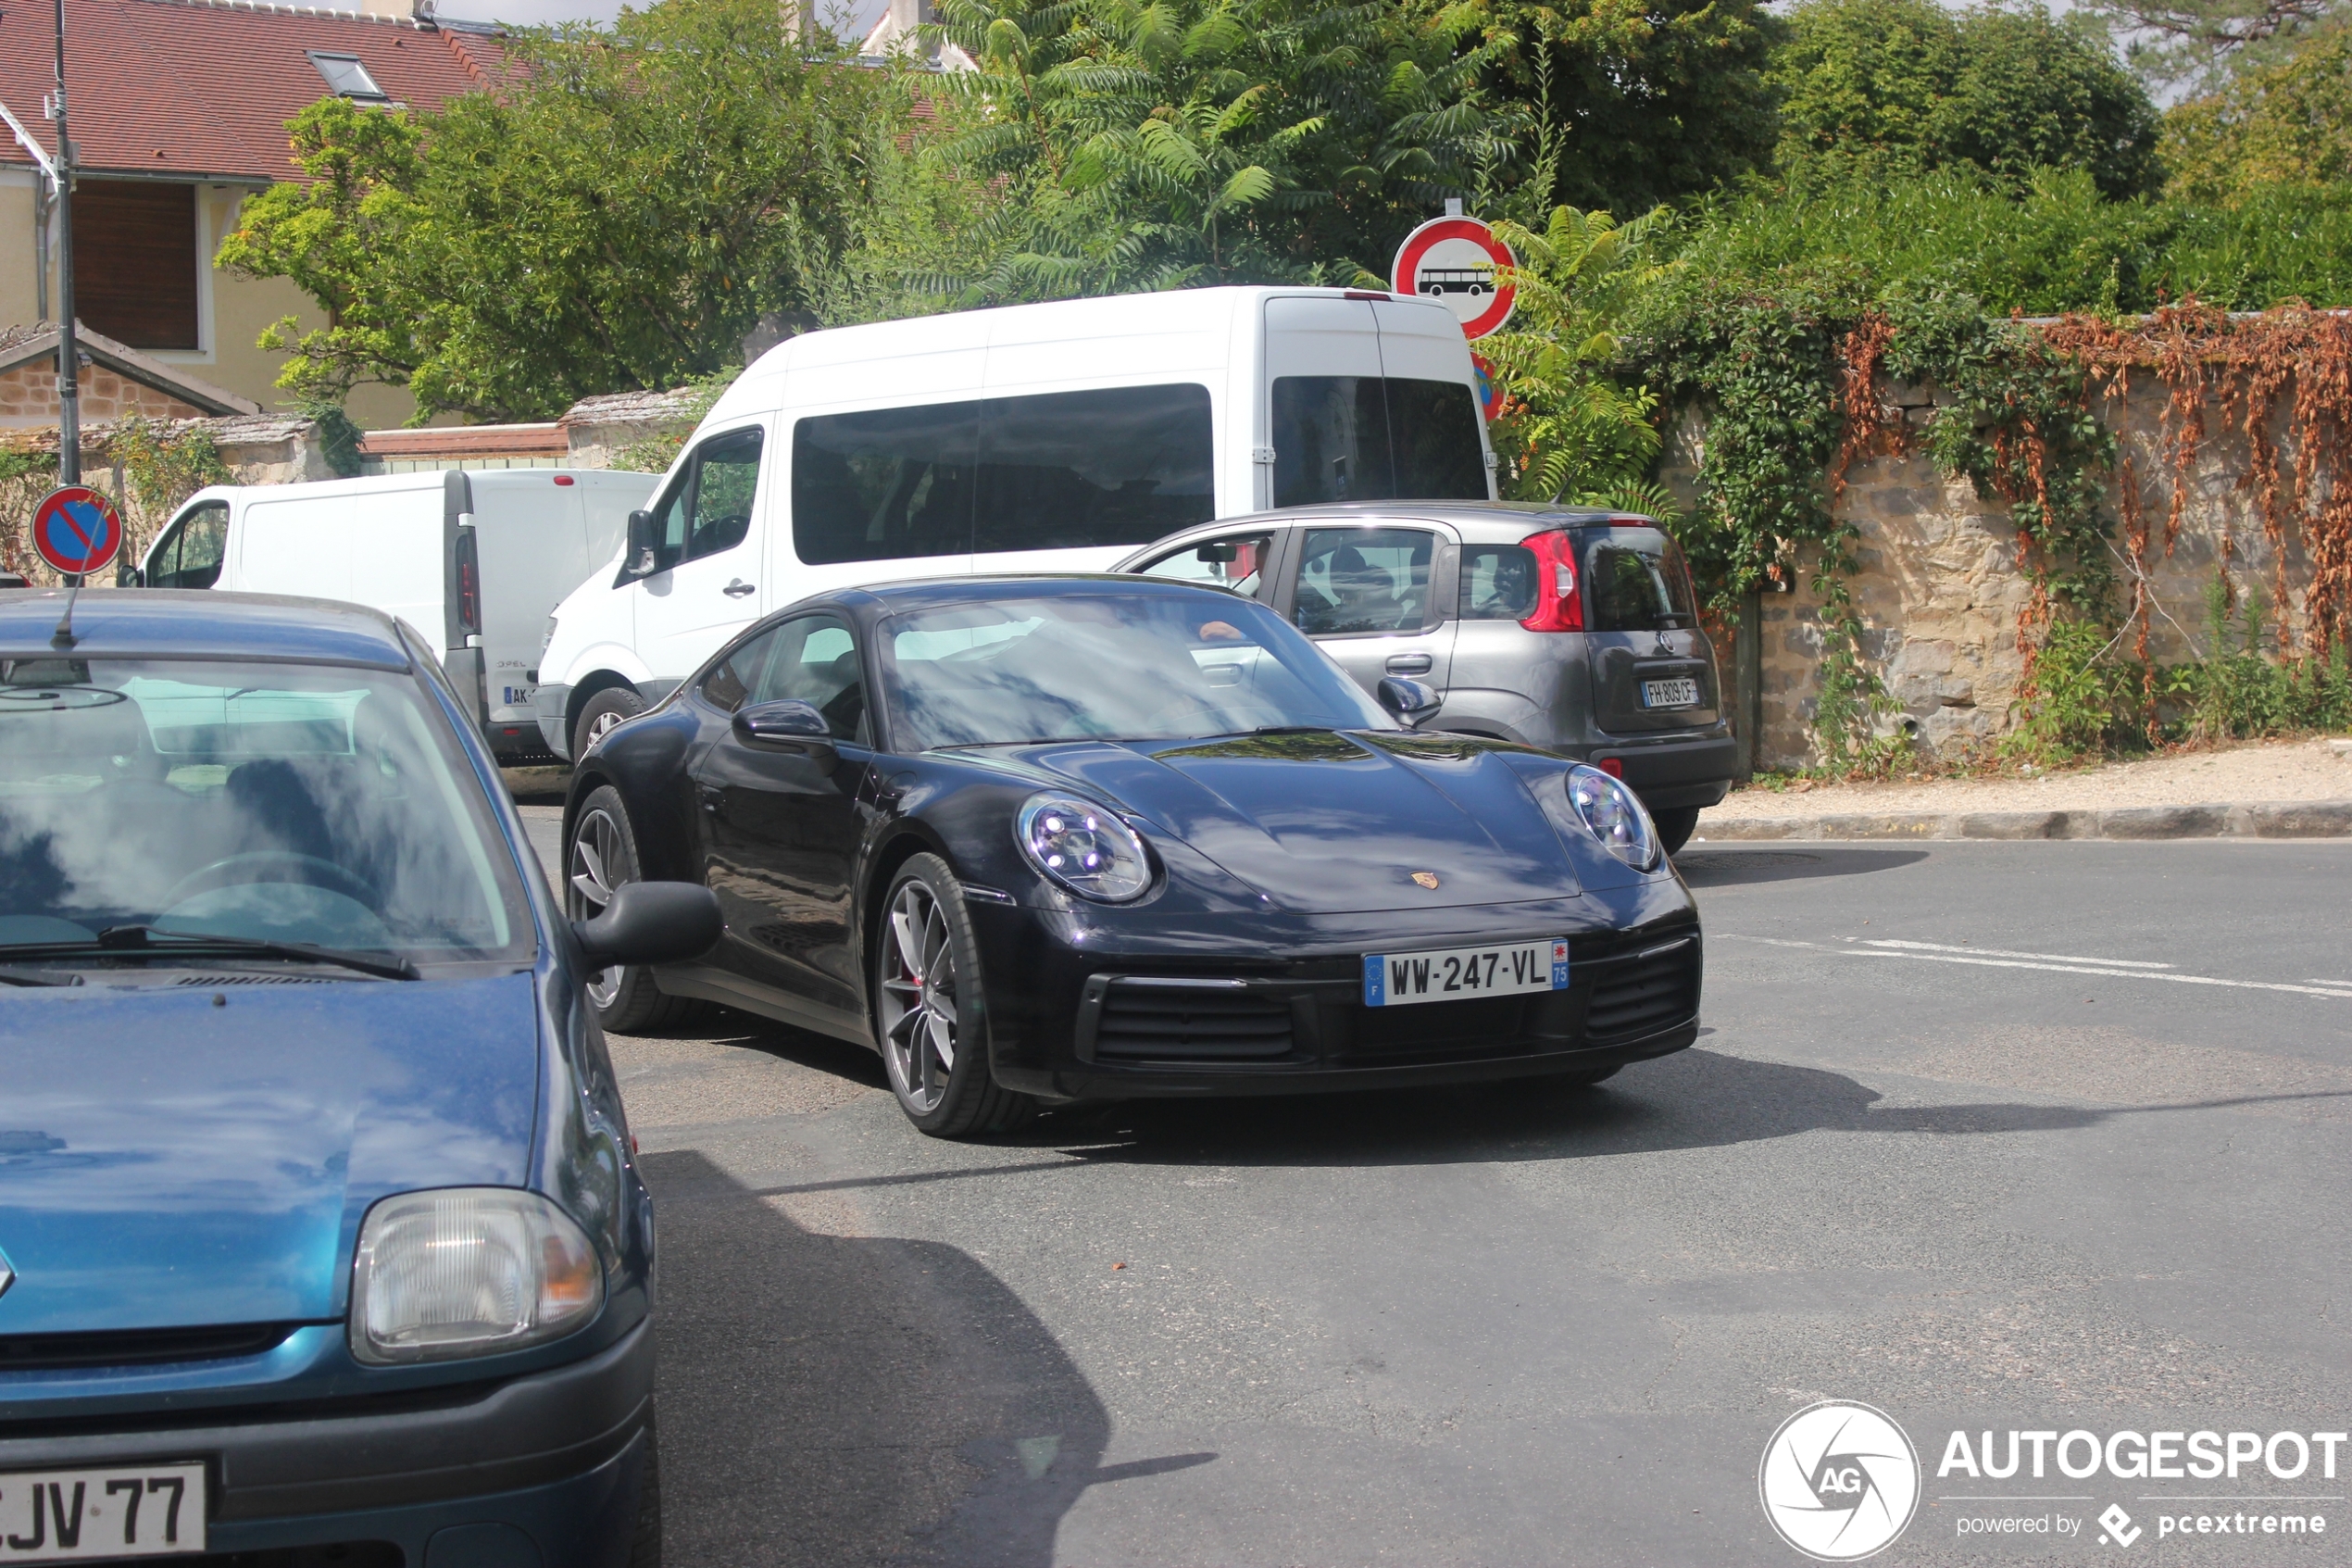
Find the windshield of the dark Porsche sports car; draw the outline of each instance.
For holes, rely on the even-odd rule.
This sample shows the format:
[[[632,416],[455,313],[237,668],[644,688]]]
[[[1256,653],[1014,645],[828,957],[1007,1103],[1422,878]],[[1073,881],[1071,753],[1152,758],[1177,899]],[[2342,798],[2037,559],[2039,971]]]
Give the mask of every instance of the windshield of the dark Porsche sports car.
[[[908,611],[882,625],[903,750],[1395,729],[1296,628],[1207,592],[1075,592]]]

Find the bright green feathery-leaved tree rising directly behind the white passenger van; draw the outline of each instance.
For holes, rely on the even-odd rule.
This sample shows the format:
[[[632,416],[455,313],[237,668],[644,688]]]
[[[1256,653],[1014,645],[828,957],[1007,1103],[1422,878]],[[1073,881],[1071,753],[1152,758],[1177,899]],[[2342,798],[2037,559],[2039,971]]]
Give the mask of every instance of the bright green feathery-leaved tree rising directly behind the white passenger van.
[[[1451,14],[1364,0],[943,0],[936,172],[1002,205],[950,230],[962,303],[1350,280],[1505,155]]]

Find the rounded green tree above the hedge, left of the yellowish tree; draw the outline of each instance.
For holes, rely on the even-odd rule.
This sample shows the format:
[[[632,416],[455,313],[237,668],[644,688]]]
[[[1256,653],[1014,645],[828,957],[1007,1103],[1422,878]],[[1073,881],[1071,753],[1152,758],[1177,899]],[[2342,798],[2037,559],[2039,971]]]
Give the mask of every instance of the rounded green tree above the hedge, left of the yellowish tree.
[[[1773,56],[1780,162],[1851,158],[2020,179],[2086,169],[2107,197],[2161,181],[2157,110],[2105,38],[2039,7],[1806,0]]]

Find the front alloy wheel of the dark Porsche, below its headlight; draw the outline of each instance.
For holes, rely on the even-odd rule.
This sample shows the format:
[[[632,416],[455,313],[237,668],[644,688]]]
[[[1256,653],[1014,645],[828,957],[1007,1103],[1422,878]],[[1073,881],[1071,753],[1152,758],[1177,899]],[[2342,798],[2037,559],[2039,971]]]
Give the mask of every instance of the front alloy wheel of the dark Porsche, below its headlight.
[[[1033,1110],[988,1072],[978,947],[964,889],[938,856],[908,860],[882,903],[875,1025],[898,1107],[924,1133],[1002,1133]]]

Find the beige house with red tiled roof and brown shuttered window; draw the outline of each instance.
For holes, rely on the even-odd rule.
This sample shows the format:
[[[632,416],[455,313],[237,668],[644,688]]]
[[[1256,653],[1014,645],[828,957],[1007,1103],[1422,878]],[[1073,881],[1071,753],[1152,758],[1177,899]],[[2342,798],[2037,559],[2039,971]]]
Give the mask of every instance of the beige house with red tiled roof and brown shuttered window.
[[[496,33],[437,24],[428,5],[66,0],[75,315],[118,348],[278,409],[280,355],[256,339],[280,317],[315,327],[322,315],[294,284],[223,273],[212,256],[247,197],[296,179],[285,122],[329,94],[435,108],[489,87],[499,66]],[[52,9],[0,7],[0,106],[54,162],[52,89]],[[35,329],[59,308],[52,214],[24,139],[0,122],[0,329]],[[56,418],[49,393],[42,423]],[[353,390],[348,407],[376,428],[412,409],[386,386]]]

